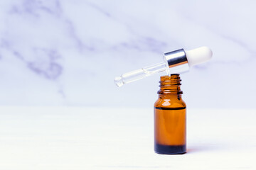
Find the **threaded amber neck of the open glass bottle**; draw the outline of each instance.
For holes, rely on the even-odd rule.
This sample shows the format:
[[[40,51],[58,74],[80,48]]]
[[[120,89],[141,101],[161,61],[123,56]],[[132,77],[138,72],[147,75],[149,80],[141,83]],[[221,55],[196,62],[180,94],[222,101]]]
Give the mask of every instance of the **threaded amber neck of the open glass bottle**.
[[[171,74],[171,77],[169,76],[162,76],[159,81],[160,89],[157,92],[159,94],[159,97],[166,98],[170,96],[174,96],[178,98],[181,98],[181,94],[183,92],[181,91],[181,79],[179,77],[179,74]]]

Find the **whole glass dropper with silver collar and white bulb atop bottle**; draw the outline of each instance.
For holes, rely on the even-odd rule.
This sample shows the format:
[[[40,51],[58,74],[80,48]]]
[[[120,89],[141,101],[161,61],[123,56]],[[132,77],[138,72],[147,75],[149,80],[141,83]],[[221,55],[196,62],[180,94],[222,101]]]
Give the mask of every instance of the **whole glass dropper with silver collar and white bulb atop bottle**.
[[[213,52],[209,47],[198,47],[188,51],[180,49],[166,52],[163,57],[164,62],[124,73],[120,77],[115,77],[114,83],[117,86],[122,86],[123,84],[128,84],[160,72],[166,72],[169,76],[175,73],[187,72],[189,67],[207,62],[212,55]]]

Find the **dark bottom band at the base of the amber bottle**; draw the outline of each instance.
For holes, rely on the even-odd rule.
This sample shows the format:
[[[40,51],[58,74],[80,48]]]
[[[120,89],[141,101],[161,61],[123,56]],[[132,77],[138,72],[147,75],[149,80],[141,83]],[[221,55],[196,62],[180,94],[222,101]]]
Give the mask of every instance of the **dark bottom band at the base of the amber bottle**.
[[[185,154],[186,145],[154,145],[154,151],[157,154]]]

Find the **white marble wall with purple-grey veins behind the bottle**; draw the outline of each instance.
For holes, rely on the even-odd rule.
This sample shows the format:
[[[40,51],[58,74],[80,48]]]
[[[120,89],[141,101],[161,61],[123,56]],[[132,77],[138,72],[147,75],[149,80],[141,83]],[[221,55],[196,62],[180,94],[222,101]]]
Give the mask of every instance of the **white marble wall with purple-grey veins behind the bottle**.
[[[164,52],[209,46],[181,75],[190,108],[256,108],[256,1],[0,1],[0,105],[152,107]]]

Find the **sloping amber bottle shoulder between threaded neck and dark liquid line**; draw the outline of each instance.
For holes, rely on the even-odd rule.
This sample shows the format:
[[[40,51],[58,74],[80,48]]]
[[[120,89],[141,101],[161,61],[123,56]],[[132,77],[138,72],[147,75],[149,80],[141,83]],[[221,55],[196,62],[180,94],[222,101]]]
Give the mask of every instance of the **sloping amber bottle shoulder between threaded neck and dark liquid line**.
[[[158,98],[154,103],[156,108],[186,108],[185,101],[182,98]]]

